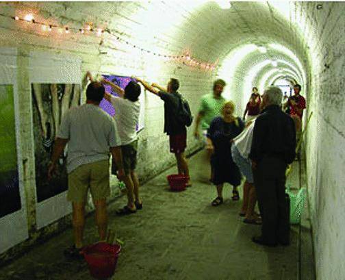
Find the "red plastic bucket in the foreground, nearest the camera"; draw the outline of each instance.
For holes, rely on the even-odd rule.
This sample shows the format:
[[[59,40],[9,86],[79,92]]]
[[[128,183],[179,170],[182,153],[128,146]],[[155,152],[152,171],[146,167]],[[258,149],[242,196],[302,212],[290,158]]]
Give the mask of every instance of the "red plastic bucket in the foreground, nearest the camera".
[[[96,279],[112,277],[116,268],[121,246],[99,242],[84,249],[84,257],[88,263],[90,274]]]

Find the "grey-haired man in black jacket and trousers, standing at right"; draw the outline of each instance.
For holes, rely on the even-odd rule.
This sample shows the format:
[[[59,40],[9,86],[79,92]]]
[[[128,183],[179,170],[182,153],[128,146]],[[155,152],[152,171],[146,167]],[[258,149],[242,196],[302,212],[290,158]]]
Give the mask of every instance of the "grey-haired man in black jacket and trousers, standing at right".
[[[283,94],[271,86],[264,92],[255,121],[249,158],[252,160],[257,200],[262,216],[261,236],[253,242],[267,246],[290,243],[290,216],[285,202],[285,170],[294,161],[294,121],[281,111]]]

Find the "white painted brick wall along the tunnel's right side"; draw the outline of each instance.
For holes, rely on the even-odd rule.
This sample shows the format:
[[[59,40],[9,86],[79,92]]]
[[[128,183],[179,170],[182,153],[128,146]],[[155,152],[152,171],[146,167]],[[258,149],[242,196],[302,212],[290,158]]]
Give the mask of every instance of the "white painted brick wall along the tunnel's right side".
[[[296,3],[310,52],[307,178],[314,233],[317,279],[345,275],[345,5]],[[326,66],[325,66],[326,64]]]

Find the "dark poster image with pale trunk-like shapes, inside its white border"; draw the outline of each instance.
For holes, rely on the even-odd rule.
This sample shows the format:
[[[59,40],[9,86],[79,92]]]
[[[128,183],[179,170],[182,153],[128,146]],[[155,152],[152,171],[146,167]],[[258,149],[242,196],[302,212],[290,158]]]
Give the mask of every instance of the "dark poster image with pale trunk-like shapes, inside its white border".
[[[79,84],[31,84],[34,127],[36,195],[38,203],[68,188],[66,173],[67,147],[57,162],[57,175],[47,179],[47,166],[62,116],[73,106],[80,105]]]

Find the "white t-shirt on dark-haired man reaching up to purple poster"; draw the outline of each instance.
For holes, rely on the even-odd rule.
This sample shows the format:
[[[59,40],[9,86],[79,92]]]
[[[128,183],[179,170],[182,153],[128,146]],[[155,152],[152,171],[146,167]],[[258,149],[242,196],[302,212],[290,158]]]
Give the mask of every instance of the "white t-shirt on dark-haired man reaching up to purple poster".
[[[122,145],[127,145],[137,139],[136,126],[139,120],[140,103],[114,96],[111,103],[115,108],[118,136]]]

